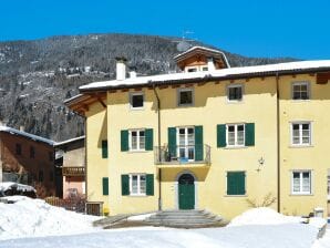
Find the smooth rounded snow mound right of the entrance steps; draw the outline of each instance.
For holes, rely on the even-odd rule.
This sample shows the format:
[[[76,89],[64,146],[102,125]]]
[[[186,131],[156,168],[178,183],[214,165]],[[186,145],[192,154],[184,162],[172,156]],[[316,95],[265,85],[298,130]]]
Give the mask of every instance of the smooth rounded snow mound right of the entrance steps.
[[[285,216],[271,208],[259,207],[249,209],[241,215],[235,217],[228,225],[245,226],[245,225],[280,225],[290,223],[300,223],[300,217]]]

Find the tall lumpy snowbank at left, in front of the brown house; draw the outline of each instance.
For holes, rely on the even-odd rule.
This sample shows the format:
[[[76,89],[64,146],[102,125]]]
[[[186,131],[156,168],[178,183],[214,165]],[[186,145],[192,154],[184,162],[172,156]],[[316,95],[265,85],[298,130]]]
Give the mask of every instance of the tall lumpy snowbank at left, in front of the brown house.
[[[0,203],[0,239],[89,232],[95,230],[92,221],[100,218],[53,207],[41,199],[6,198],[16,203]]]

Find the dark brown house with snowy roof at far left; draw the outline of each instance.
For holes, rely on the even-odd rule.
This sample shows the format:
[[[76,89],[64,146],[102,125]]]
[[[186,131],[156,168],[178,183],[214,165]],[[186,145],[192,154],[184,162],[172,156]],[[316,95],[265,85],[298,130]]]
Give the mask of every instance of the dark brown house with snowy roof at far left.
[[[56,195],[54,142],[0,126],[2,180],[34,186],[42,196]]]

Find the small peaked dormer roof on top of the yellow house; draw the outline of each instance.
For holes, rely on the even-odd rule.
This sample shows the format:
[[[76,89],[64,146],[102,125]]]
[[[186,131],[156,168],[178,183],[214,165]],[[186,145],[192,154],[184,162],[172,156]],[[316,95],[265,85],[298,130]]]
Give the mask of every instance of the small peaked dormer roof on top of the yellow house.
[[[174,61],[178,62],[178,61],[189,58],[189,53],[204,53],[205,55],[220,58],[225,62],[225,65],[227,68],[230,68],[230,64],[229,64],[227,56],[224,52],[221,52],[219,50],[215,50],[215,49],[205,48],[205,46],[198,46],[198,45],[193,46],[181,54],[177,54],[173,59],[174,59]]]

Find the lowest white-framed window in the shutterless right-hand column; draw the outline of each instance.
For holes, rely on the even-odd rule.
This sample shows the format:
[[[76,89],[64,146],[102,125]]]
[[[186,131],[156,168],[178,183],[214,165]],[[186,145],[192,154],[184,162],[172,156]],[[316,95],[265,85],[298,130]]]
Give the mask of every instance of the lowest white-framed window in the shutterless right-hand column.
[[[311,172],[310,170],[292,172],[292,194],[295,195],[311,194]]]

